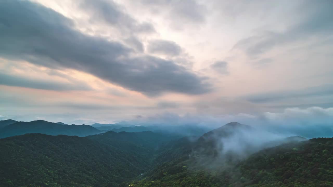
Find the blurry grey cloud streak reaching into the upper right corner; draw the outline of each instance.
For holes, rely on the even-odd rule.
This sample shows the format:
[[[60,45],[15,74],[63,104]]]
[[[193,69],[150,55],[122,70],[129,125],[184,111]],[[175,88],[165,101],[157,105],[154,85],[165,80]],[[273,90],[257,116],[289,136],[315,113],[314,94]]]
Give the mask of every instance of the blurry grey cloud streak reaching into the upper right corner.
[[[331,36],[333,32],[333,1],[305,1],[297,9],[300,21],[289,26],[284,32],[271,32],[240,40],[234,49],[242,49],[248,55],[259,55],[272,48],[320,35]]]

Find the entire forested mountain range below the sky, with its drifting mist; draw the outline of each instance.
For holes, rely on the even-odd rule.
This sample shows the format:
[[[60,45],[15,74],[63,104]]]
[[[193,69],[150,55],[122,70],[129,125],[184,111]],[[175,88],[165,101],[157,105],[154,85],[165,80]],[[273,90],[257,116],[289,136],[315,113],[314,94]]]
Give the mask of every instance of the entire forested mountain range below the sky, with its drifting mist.
[[[238,122],[207,132],[198,128],[201,135],[191,136],[162,128],[103,132],[90,125],[43,120],[0,124],[10,122],[0,129],[0,134],[15,135],[0,139],[0,186],[333,184],[333,138],[286,137]]]

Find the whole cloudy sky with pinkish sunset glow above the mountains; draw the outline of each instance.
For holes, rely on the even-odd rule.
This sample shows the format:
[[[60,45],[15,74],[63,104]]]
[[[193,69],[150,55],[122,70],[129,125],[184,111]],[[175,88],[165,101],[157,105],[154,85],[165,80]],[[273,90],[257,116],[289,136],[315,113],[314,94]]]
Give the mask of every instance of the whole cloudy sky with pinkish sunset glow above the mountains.
[[[2,0],[0,120],[331,123],[332,9],[331,0]]]

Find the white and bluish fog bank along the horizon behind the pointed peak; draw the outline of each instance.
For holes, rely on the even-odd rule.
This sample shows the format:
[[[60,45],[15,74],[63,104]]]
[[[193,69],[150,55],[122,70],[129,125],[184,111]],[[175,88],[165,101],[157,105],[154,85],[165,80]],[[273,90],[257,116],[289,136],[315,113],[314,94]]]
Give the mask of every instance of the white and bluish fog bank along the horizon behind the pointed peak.
[[[163,113],[138,120],[134,124],[156,125],[167,129],[178,129],[180,126],[200,127],[209,131],[231,121],[250,125],[262,132],[274,134],[269,137],[302,136],[305,138],[333,136],[333,108],[309,107],[286,108],[280,113],[263,112],[259,114],[239,113],[234,115],[209,116],[200,114],[186,114],[180,116],[175,113]],[[186,128],[183,129],[186,132]],[[263,139],[265,133],[257,132],[254,139]],[[245,133],[246,134],[246,133]],[[260,138],[258,138],[260,137]]]

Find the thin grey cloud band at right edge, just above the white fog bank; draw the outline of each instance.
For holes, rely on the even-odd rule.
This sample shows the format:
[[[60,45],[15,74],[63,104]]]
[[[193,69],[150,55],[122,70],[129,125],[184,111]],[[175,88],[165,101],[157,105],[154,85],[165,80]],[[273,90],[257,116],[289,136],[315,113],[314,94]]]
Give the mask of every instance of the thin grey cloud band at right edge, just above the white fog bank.
[[[296,97],[325,96],[333,95],[333,85],[322,85],[318,87],[308,87],[301,90],[281,91],[272,93],[252,94],[245,96],[245,99],[254,103],[265,103]]]

